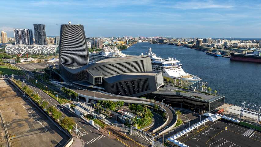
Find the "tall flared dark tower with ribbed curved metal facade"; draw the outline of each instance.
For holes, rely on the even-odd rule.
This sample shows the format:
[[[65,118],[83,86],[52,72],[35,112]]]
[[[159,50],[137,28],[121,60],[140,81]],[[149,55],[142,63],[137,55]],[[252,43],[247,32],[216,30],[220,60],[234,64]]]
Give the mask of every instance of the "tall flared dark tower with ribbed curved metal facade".
[[[59,64],[79,67],[88,62],[89,52],[83,25],[61,25]]]

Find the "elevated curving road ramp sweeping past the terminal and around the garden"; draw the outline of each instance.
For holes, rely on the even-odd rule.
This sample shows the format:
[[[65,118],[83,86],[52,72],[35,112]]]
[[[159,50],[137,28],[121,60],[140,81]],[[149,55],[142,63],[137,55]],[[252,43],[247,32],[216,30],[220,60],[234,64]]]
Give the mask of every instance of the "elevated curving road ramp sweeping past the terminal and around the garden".
[[[66,85],[64,84],[64,87],[67,87],[69,88],[69,85]],[[71,85],[71,90],[75,91],[76,93],[78,93],[77,89],[78,87],[75,87],[74,85]],[[86,96],[94,96],[94,91],[89,91],[89,90],[82,90],[82,89],[79,89],[79,93],[80,94],[83,94],[83,95],[86,95]],[[133,99],[131,97],[121,97],[121,96],[112,96],[112,95],[108,95],[108,94],[105,94],[105,93],[101,93],[101,92],[98,92],[96,91],[95,92],[95,97],[98,97],[98,98],[105,98],[105,99],[119,99],[119,100],[137,100],[137,99]],[[152,101],[149,101],[147,99],[144,99],[142,100],[144,102],[152,102]],[[161,102],[155,102],[155,104],[159,105],[159,106],[162,106],[162,103]],[[167,113],[169,115],[169,121],[167,122],[167,124],[160,130],[158,130],[156,133],[160,133],[161,131],[163,131],[164,129],[166,129],[168,126],[171,126],[172,124],[175,123],[176,121],[176,117],[175,117],[175,113],[173,111],[171,111],[171,109],[166,106],[163,105],[163,108],[165,110],[167,110]]]

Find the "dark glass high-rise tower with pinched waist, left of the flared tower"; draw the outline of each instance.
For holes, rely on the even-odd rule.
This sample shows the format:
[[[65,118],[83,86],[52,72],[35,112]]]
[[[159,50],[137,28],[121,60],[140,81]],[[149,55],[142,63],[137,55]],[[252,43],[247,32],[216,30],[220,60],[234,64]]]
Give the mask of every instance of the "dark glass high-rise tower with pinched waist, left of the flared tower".
[[[42,24],[34,24],[35,29],[35,44],[38,45],[46,45],[46,32],[45,25]]]

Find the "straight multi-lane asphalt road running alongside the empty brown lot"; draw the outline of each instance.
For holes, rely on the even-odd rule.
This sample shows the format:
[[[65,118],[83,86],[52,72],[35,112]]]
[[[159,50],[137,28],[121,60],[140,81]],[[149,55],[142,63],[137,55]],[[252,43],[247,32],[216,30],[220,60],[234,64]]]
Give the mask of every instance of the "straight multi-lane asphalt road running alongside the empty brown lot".
[[[16,76],[17,78],[21,78],[20,76]],[[15,78],[16,78],[15,77]],[[22,82],[24,80],[24,82]],[[34,85],[31,85],[28,81],[25,81],[25,78],[22,78],[20,80],[22,82],[22,86],[29,85],[28,87],[31,88],[36,94],[39,94],[39,96],[47,101],[50,106],[55,106],[59,109],[59,111],[64,115],[68,117],[73,117],[75,120],[75,123],[79,123],[77,125],[77,128],[79,129],[78,135],[83,141],[85,142],[84,146],[92,146],[92,147],[120,147],[125,146],[116,139],[110,139],[106,135],[102,134],[100,131],[95,129],[93,126],[90,126],[88,123],[85,123],[82,119],[80,119],[77,115],[75,115],[73,112],[70,112],[68,109],[62,107],[56,100],[48,96],[45,92],[42,92],[40,89],[35,87]],[[74,126],[76,129],[76,126]],[[73,130],[75,133],[75,130]],[[107,134],[107,132],[106,132]]]

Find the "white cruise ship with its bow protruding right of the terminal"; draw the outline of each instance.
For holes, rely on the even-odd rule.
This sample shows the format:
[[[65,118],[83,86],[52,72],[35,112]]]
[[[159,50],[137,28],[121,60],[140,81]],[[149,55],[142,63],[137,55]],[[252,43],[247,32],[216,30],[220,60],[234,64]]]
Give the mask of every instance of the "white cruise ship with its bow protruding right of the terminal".
[[[174,58],[163,59],[157,57],[156,54],[152,53],[151,48],[149,48],[148,56],[151,58],[152,70],[161,71],[163,77],[169,77],[172,79],[181,78],[182,84],[185,84],[186,86],[201,81],[199,77],[185,73],[181,68],[182,64]]]

